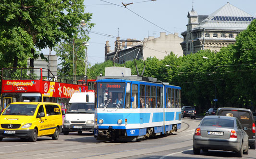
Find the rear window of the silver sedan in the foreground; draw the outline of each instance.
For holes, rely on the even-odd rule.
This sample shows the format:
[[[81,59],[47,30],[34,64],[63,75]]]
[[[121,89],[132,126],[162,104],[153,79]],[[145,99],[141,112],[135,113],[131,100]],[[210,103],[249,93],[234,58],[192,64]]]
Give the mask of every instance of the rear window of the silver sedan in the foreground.
[[[201,122],[201,126],[234,127],[234,120],[219,119],[219,118],[205,118]]]

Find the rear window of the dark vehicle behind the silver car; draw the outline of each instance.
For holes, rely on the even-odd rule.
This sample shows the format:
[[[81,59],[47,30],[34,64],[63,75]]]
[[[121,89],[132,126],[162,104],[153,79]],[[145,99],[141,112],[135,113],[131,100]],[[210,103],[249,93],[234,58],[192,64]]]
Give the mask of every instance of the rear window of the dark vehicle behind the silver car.
[[[220,116],[237,117],[241,124],[252,123],[252,117],[250,117],[250,113],[246,112],[246,111],[223,110],[220,112],[219,115]]]

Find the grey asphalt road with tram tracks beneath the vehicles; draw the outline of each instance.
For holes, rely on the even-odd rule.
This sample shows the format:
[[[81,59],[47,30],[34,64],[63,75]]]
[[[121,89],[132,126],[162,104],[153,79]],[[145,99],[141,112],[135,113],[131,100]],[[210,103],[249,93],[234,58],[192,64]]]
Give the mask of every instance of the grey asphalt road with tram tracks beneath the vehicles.
[[[40,137],[37,142],[19,138],[3,138],[0,159],[224,159],[236,158],[234,152],[209,150],[193,154],[193,133],[200,119],[182,119],[182,128],[167,137],[137,142],[97,141],[93,133],[60,134],[58,140]],[[249,149],[243,159],[256,159],[256,150]]]

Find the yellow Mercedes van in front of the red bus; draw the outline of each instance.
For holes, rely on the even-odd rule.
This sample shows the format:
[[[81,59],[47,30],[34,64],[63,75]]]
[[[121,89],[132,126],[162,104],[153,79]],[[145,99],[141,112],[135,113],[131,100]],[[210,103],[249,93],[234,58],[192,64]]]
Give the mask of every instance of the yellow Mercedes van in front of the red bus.
[[[49,136],[57,140],[62,131],[61,106],[49,102],[14,102],[0,116],[0,141],[2,138],[28,138]]]

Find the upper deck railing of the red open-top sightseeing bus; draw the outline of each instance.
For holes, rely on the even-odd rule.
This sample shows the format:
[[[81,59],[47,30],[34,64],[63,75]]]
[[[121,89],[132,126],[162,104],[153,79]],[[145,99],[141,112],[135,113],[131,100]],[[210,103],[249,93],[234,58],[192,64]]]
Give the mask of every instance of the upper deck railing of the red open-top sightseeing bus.
[[[42,74],[42,76],[41,76]],[[86,85],[87,76],[80,75],[53,75],[44,68],[2,68],[3,80],[47,80],[68,84]]]

